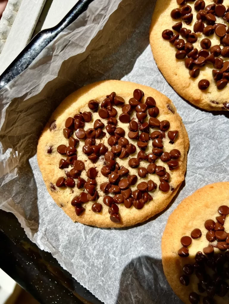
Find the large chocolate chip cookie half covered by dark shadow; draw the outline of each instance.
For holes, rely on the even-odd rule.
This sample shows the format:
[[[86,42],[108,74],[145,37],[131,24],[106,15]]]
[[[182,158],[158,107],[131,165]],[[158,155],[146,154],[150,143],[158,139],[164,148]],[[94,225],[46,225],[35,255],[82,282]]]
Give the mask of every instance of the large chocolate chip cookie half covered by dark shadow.
[[[220,208],[218,211],[220,206],[224,206],[224,208]],[[228,303],[229,288],[227,284],[229,283],[229,272],[227,262],[229,261],[229,237],[227,235],[229,234],[224,234],[223,231],[225,229],[225,232],[229,232],[228,213],[229,182],[220,182],[200,188],[188,196],[178,205],[168,219],[161,244],[162,263],[169,284],[184,303]],[[213,220],[215,225],[212,225],[212,221],[212,223],[206,222],[209,219]],[[192,232],[194,229],[199,229],[202,235],[200,236],[198,230]],[[188,238],[181,240],[184,236]],[[215,237],[217,237],[217,240]],[[192,243],[190,246],[187,246],[190,240],[192,240]],[[181,242],[185,243],[185,248],[188,249],[188,257],[178,255],[178,250],[180,250],[180,255],[182,255],[181,251],[183,251],[183,255],[187,251],[184,247],[181,250]],[[213,250],[214,252],[211,253]],[[196,257],[196,253],[199,251],[202,254]],[[225,264],[221,262],[222,258],[223,260],[225,259]],[[215,261],[214,264],[212,261]],[[195,263],[196,265],[193,267]],[[191,264],[192,266],[186,266],[185,271],[183,271],[182,269],[186,264]],[[193,274],[187,275],[189,271],[193,271]],[[210,277],[206,276],[206,273]],[[217,282],[216,273],[221,278],[224,278],[224,282],[227,284],[223,280],[220,282],[219,278]],[[183,284],[188,281],[190,282],[185,286],[181,284],[181,280]],[[201,281],[205,282],[199,285],[198,288],[197,284]],[[201,290],[201,287],[204,289]],[[207,288],[208,292],[205,290]],[[193,294],[193,292],[199,295],[199,302],[198,296]],[[189,299],[190,293],[192,293],[191,301]],[[197,297],[196,301],[195,297]]]

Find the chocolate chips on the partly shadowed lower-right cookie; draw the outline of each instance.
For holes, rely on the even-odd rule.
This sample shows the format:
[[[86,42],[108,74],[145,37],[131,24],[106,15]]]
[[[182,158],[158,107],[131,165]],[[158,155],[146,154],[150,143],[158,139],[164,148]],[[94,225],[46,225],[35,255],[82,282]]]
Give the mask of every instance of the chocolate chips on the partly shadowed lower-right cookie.
[[[229,207],[220,206],[218,212],[220,215],[216,217],[216,221],[208,219],[204,223],[206,230],[208,230],[206,239],[209,241],[209,246],[203,248],[204,254],[201,251],[196,253],[194,264],[184,265],[184,275],[180,277],[180,283],[188,286],[189,276],[195,272],[196,277],[199,279],[199,293],[206,292],[206,296],[203,297],[203,304],[214,304],[213,297],[215,295],[224,297],[229,290],[226,282],[229,279],[229,233],[224,230],[224,222],[229,214]],[[178,255],[187,257],[187,247],[191,245],[192,239],[200,238],[201,235],[202,233],[199,229],[194,229],[191,232],[191,237],[181,237],[183,247],[178,250]],[[214,254],[214,248],[218,248],[222,253]],[[200,296],[196,292],[191,292],[189,301],[192,304],[197,304],[200,302]]]

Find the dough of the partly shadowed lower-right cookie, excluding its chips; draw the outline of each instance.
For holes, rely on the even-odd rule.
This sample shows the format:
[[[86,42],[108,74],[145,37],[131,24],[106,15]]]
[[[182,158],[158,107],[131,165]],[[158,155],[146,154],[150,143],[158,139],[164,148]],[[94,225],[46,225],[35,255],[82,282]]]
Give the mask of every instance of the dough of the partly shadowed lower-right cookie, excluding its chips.
[[[203,253],[203,248],[210,244],[213,246],[217,244],[216,240],[211,243],[206,239],[208,230],[204,224],[208,219],[213,219],[217,223],[216,217],[220,216],[218,208],[222,205],[229,206],[229,182],[215,183],[200,188],[184,199],[168,219],[161,243],[162,264],[169,284],[184,303],[190,304],[188,296],[191,292],[196,292],[199,295],[199,303],[212,303],[203,301],[203,297],[207,295],[206,292],[200,293],[198,291],[197,283],[199,280],[195,275],[195,270],[189,276],[190,283],[188,286],[180,283],[180,277],[184,275],[182,268],[185,264],[195,263],[195,255],[198,251]],[[182,247],[181,237],[190,237],[192,230],[196,228],[201,230],[202,236],[198,239],[192,239],[191,245],[187,247],[189,250],[188,257],[178,256],[178,250]],[[229,232],[229,215],[226,216],[224,228],[225,231]],[[227,251],[220,251],[215,247],[214,255],[225,254]],[[213,271],[210,271],[206,264],[205,269],[208,269],[207,272],[212,278]],[[229,280],[227,279],[226,282],[229,283]],[[224,297],[215,295],[213,299],[215,304],[226,304],[228,303],[228,292]]]

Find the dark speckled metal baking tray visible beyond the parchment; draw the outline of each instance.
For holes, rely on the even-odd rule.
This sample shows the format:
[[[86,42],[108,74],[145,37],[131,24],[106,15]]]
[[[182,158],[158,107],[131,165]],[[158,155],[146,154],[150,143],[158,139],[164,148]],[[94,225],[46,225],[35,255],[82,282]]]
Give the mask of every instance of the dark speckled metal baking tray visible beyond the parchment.
[[[0,76],[0,89],[22,73],[94,0],[80,0],[55,27],[38,33]],[[16,217],[0,210],[0,267],[41,304],[102,304],[50,254],[26,236]]]

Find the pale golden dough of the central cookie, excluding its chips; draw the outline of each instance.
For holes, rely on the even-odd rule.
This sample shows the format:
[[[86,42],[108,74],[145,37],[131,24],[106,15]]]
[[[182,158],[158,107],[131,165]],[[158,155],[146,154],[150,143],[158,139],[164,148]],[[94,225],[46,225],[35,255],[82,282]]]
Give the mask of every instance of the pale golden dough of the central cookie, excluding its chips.
[[[84,145],[84,140],[79,140],[79,145],[76,147],[78,160],[83,161],[85,164],[85,170],[81,173],[81,178],[87,180],[86,172],[89,168],[96,168],[98,175],[96,177],[97,187],[96,190],[99,194],[98,203],[102,205],[102,211],[100,213],[95,213],[92,211],[92,205],[94,202],[87,202],[83,204],[83,207],[86,209],[80,216],[77,216],[75,213],[74,207],[71,205],[72,199],[79,195],[82,191],[86,191],[84,188],[78,189],[76,186],[74,188],[69,187],[56,187],[56,181],[59,177],[65,177],[64,169],[59,169],[59,161],[61,158],[66,159],[66,155],[61,155],[57,152],[57,147],[60,144],[65,144],[68,146],[68,139],[63,136],[63,128],[65,128],[65,120],[68,117],[73,117],[79,112],[89,111],[92,113],[92,121],[85,123],[83,127],[84,130],[88,128],[93,128],[94,121],[96,119],[101,119],[104,125],[107,125],[107,119],[102,119],[98,115],[98,112],[94,112],[89,109],[88,102],[90,100],[97,100],[100,104],[103,102],[106,95],[111,94],[111,92],[116,92],[118,96],[121,96],[125,99],[125,104],[129,105],[129,99],[133,98],[133,91],[138,88],[144,92],[144,97],[141,102],[145,103],[146,98],[152,96],[156,103],[157,107],[160,110],[157,119],[160,121],[168,120],[170,122],[169,130],[178,130],[179,135],[177,139],[172,143],[168,136],[167,132],[165,132],[165,138],[163,139],[164,151],[170,152],[172,149],[178,149],[181,152],[180,158],[177,160],[179,162],[178,168],[174,170],[170,170],[166,162],[162,162],[160,157],[156,160],[157,166],[163,166],[166,168],[166,171],[170,174],[171,178],[169,181],[170,188],[167,192],[160,191],[159,188],[159,176],[156,174],[147,174],[145,178],[140,178],[138,176],[138,168],[130,168],[128,165],[128,161],[130,158],[137,157],[138,152],[140,151],[137,146],[137,140],[132,140],[128,137],[129,132],[129,123],[121,123],[118,119],[119,115],[122,113],[122,107],[120,105],[113,107],[117,110],[118,114],[116,118],[118,119],[117,127],[121,127],[125,130],[125,138],[129,140],[129,143],[132,143],[136,146],[136,152],[134,154],[129,155],[124,159],[119,159],[116,157],[116,161],[120,166],[124,166],[129,169],[129,175],[136,174],[138,177],[137,183],[135,185],[131,185],[129,188],[133,190],[137,189],[137,185],[142,181],[153,180],[157,184],[157,189],[149,192],[152,195],[153,200],[147,202],[142,209],[136,209],[134,206],[131,208],[126,208],[124,204],[118,204],[119,214],[121,217],[120,223],[114,223],[110,220],[110,214],[108,213],[108,206],[106,206],[103,202],[103,198],[105,195],[114,196],[113,194],[104,194],[100,190],[100,185],[104,182],[108,182],[108,178],[101,174],[101,168],[104,166],[104,156],[100,156],[96,163],[92,163],[88,157],[83,154],[82,147]],[[100,105],[99,108],[100,109]],[[136,112],[132,110],[132,114],[130,115],[131,119],[136,119]],[[150,116],[146,117],[146,121],[148,121]],[[137,119],[136,119],[137,121]],[[51,124],[55,122],[56,128],[54,130],[50,129]],[[150,133],[159,130],[158,128],[150,128]],[[107,143],[107,139],[110,135],[107,133],[106,128],[103,128],[103,131],[106,133],[105,137],[101,139],[96,139],[96,145],[98,143],[104,143],[104,145],[111,150],[111,147]],[[140,131],[139,131],[140,133]],[[75,131],[72,135],[76,138]],[[51,147],[51,149],[50,149]],[[161,212],[166,206],[169,204],[171,199],[174,197],[178,188],[180,187],[182,181],[184,180],[184,174],[186,171],[186,162],[187,162],[187,152],[189,147],[188,135],[185,130],[185,126],[182,123],[180,116],[178,115],[174,105],[172,102],[160,92],[154,90],[153,88],[131,83],[125,81],[101,81],[97,83],[93,83],[91,85],[87,85],[78,91],[71,94],[67,97],[55,110],[52,114],[49,122],[47,123],[44,131],[39,139],[38,147],[37,147],[37,159],[38,164],[41,169],[41,173],[44,178],[44,182],[47,186],[47,189],[63,211],[71,217],[73,221],[80,222],[87,225],[94,225],[98,227],[123,227],[123,226],[131,226],[137,223],[143,222],[146,219],[149,219],[153,215]],[[49,150],[49,153],[48,153]],[[148,147],[146,148],[146,154],[152,153],[152,140],[150,139],[148,142]],[[139,167],[145,167],[149,165],[148,161],[140,161]],[[70,170],[72,166],[69,166]],[[126,176],[124,177],[126,178]],[[77,183],[77,179],[75,179]]]

